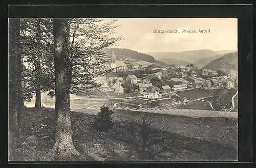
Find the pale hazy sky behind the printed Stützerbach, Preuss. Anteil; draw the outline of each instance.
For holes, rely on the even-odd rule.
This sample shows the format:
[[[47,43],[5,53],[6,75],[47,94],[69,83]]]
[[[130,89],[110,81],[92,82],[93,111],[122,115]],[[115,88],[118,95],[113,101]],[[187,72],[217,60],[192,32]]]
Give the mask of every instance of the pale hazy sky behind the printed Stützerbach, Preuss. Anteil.
[[[237,18],[118,18],[117,35],[124,40],[116,47],[140,52],[185,51],[198,49],[236,50]],[[210,29],[210,33],[182,33]],[[180,33],[154,33],[178,30]]]

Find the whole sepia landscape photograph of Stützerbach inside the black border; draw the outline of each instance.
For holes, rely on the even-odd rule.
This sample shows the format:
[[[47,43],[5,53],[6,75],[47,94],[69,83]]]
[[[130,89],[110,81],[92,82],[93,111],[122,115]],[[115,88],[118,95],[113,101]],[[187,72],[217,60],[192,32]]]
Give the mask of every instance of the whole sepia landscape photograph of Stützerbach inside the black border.
[[[8,81],[9,161],[238,160],[237,18],[9,18]]]

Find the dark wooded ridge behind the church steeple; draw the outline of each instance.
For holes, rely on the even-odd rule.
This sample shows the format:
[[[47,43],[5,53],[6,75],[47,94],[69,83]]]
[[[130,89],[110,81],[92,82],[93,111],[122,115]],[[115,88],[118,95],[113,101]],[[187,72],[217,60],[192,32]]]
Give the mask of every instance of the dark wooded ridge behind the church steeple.
[[[154,57],[151,55],[141,53],[138,51],[134,51],[131,49],[126,49],[126,48],[104,48],[102,49],[104,52],[108,54],[112,54],[112,51],[114,50],[114,53],[116,57],[118,58],[131,58],[135,60],[142,60],[150,63],[156,63],[156,64],[164,64],[163,62],[155,60]]]

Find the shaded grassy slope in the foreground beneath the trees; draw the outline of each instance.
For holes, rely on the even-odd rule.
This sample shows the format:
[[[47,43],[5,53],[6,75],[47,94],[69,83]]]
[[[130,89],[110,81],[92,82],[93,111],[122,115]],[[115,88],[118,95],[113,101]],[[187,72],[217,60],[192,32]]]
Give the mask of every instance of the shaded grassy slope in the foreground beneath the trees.
[[[72,113],[73,142],[81,154],[81,158],[73,161],[142,160],[140,128],[145,115],[147,122],[151,123],[145,160],[237,159],[237,120],[200,120],[117,110],[114,114],[114,128],[109,132],[94,130],[91,126],[95,120],[94,115]],[[12,161],[44,161],[43,156],[54,144],[54,117],[54,109],[24,110],[22,132],[19,137],[15,137],[15,150],[10,153]],[[131,126],[134,127],[134,137],[131,135]],[[212,129],[208,130],[206,126]],[[187,128],[190,130],[185,132]]]

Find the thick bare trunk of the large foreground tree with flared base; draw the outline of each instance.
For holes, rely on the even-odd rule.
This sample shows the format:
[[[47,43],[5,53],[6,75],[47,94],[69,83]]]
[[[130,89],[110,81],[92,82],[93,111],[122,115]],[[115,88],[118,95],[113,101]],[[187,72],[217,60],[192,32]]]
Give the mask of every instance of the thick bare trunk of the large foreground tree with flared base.
[[[56,141],[52,149],[62,157],[79,155],[72,141],[70,114],[68,19],[53,19]]]

